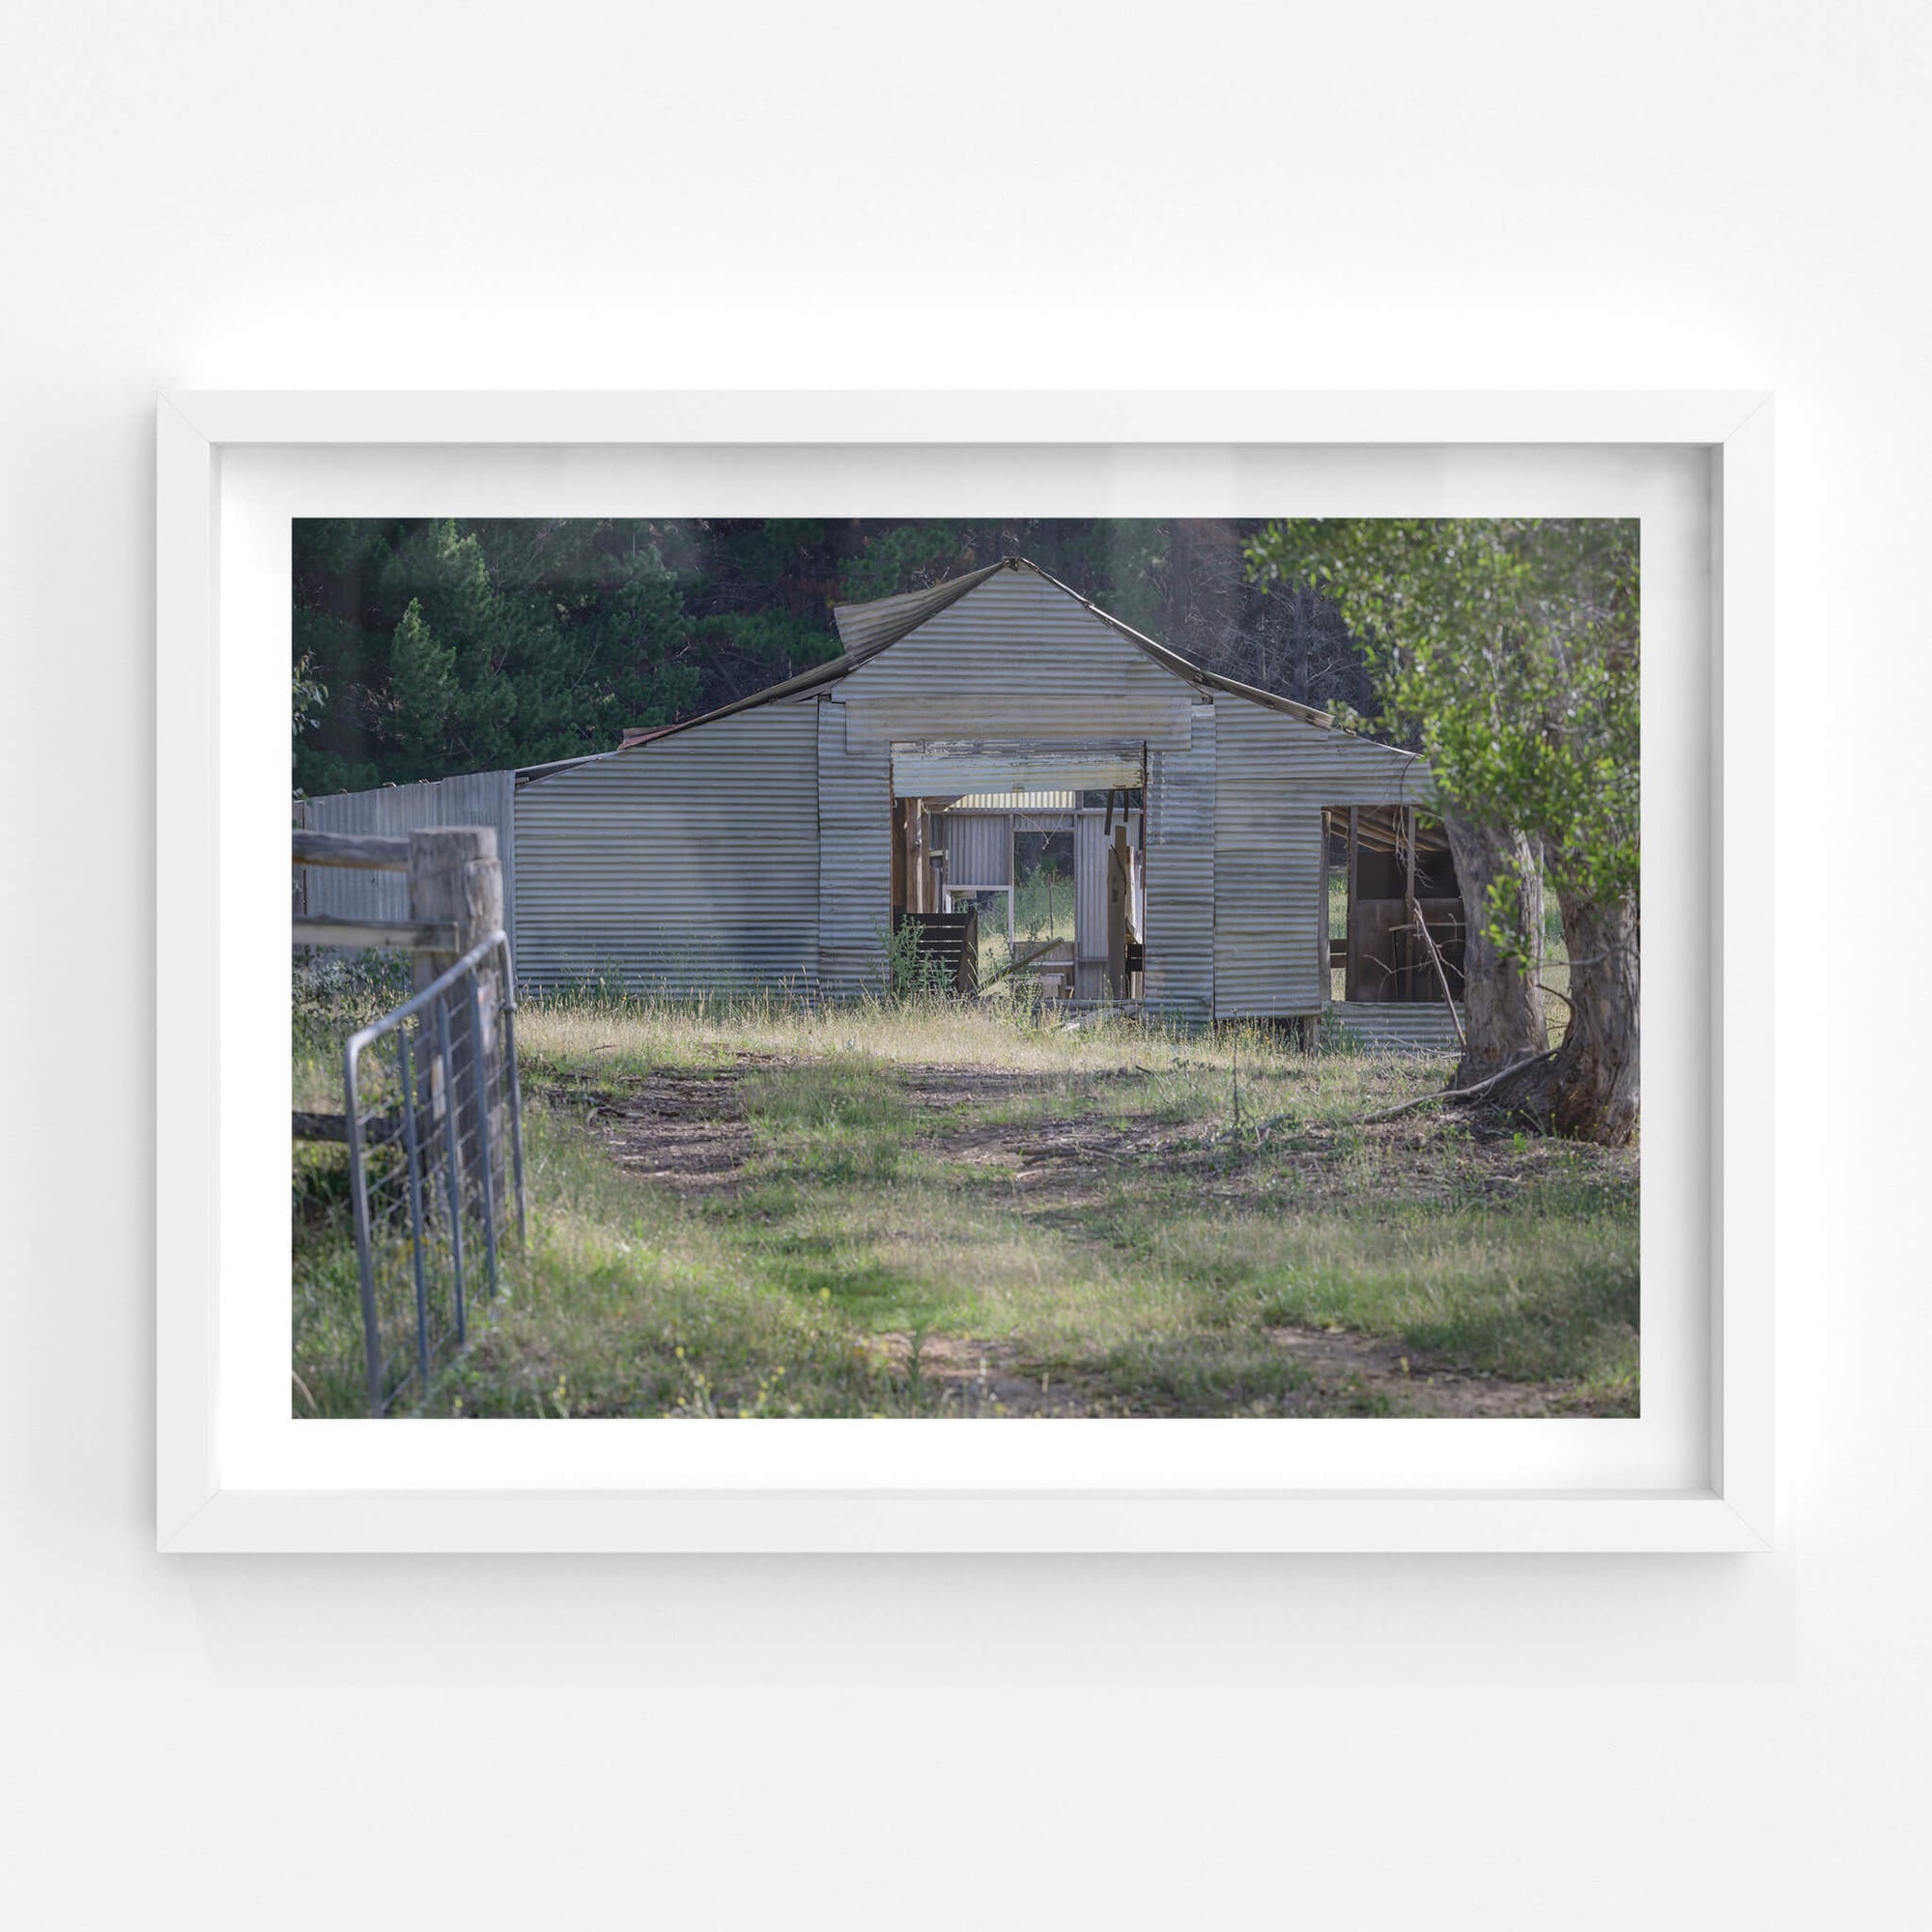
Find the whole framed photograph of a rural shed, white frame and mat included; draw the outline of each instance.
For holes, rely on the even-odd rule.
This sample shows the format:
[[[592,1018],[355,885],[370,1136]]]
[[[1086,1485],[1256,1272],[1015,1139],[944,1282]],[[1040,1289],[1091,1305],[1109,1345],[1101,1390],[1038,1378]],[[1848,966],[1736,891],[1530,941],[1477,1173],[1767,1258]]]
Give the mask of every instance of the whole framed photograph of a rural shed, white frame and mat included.
[[[1770,1548],[1768,396],[156,454],[162,1549]]]

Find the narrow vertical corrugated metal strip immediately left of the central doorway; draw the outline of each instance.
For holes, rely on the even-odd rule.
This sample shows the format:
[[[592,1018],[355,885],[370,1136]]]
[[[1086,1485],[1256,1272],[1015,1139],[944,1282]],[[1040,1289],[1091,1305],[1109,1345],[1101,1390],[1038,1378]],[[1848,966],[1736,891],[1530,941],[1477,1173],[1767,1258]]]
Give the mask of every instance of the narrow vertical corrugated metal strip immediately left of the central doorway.
[[[893,761],[883,742],[848,748],[848,705],[821,699],[806,709],[817,713],[819,985],[871,993],[893,920]]]

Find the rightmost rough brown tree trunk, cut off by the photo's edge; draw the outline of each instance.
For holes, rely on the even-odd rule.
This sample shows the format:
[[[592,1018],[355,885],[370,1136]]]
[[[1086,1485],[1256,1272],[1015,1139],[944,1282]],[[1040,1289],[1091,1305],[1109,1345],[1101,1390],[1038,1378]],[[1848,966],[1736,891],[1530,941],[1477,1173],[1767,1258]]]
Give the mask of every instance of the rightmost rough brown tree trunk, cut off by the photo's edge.
[[[1563,900],[1571,1020],[1551,1059],[1505,1080],[1492,1101],[1548,1134],[1627,1148],[1638,1111],[1638,918],[1634,898]]]

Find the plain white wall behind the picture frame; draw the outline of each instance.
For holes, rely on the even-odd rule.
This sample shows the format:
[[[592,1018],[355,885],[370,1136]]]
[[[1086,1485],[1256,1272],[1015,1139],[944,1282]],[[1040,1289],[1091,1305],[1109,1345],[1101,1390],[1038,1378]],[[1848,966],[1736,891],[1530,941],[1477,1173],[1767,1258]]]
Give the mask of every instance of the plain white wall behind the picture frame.
[[[1909,844],[1928,81],[1905,0],[6,10],[15,1922],[1922,1922],[1920,976],[1828,997],[1810,753]],[[746,381],[1776,384],[1779,1553],[153,1553],[155,390]]]

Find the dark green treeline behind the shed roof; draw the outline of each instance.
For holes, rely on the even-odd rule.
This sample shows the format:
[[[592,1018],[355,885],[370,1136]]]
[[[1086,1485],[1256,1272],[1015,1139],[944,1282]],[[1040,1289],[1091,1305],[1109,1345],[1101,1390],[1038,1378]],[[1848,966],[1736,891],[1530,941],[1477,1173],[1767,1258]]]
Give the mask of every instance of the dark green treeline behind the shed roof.
[[[1312,591],[1265,593],[1260,522],[298,520],[296,790],[611,750],[838,655],[833,605],[1028,556],[1196,663],[1370,709]]]

